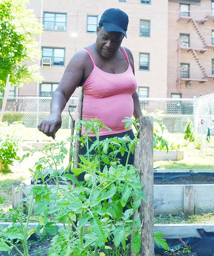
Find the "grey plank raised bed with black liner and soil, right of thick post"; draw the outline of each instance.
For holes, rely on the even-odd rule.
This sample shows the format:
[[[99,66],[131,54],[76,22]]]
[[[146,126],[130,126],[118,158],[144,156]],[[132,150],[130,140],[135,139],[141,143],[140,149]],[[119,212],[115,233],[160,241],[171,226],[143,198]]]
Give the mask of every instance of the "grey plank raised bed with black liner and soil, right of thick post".
[[[183,184],[176,184],[176,178],[179,178],[180,183],[183,179]],[[185,179],[189,183],[185,183]],[[197,179],[200,184],[197,184]],[[214,198],[214,170],[158,170],[154,173],[154,184],[156,180],[159,182],[154,185],[155,215],[177,215],[180,212],[193,214],[194,210],[199,213],[214,211],[211,200]]]

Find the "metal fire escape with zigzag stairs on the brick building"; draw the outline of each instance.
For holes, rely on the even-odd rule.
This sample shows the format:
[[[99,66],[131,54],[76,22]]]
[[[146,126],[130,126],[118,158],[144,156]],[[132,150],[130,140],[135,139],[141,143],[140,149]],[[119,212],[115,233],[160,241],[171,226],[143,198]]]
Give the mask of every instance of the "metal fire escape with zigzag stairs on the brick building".
[[[182,14],[182,13],[181,13]],[[180,38],[178,40],[178,74],[177,74],[177,87],[178,89],[180,88],[180,83],[181,81],[185,81],[186,84],[189,83],[192,84],[193,81],[196,82],[200,82],[200,83],[204,83],[208,81],[208,78],[213,78],[214,79],[214,75],[208,75],[206,72],[206,69],[203,66],[203,63],[200,60],[199,55],[203,54],[204,52],[206,52],[208,49],[213,49],[214,50],[214,45],[208,45],[206,43],[206,40],[203,36],[203,33],[201,32],[198,24],[203,25],[207,20],[211,20],[214,21],[214,16],[210,15],[210,16],[206,16],[206,18],[202,18],[202,19],[196,19],[193,17],[189,16],[184,13],[184,16],[180,16],[179,19],[177,20],[177,22],[185,22],[185,23],[191,23],[193,24],[193,27],[195,28],[197,34],[199,35],[200,40],[202,41],[204,47],[203,48],[193,48],[189,45],[189,41],[188,43],[183,43],[181,42]],[[191,77],[189,75],[189,70],[188,70],[188,75],[183,75],[181,67],[180,67],[180,59],[181,59],[181,51],[186,51],[186,52],[191,52],[193,54],[194,59],[196,60],[196,63],[199,65],[200,70],[201,70],[201,77],[200,78],[196,78],[196,77]],[[185,73],[184,73],[185,74]]]

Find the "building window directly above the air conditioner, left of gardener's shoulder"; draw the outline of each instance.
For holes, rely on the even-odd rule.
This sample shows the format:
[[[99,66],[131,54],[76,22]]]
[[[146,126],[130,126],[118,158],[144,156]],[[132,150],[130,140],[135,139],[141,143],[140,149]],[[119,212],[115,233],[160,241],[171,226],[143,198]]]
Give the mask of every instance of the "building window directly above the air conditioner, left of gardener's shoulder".
[[[51,65],[65,65],[65,49],[42,48],[42,58],[51,58]]]

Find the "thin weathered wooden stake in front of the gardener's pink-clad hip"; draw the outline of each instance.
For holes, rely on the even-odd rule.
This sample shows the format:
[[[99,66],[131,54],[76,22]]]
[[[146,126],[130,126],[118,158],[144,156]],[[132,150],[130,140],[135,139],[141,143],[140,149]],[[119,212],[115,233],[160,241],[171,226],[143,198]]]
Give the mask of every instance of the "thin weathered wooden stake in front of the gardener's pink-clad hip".
[[[79,86],[79,94],[78,94],[78,102],[77,102],[77,120],[76,122],[79,122],[82,119],[83,114],[83,92],[84,88],[82,86]],[[79,134],[81,136],[81,130],[76,130],[76,134]],[[74,152],[74,168],[78,168],[79,165],[77,163],[80,162],[79,159],[80,154],[80,141],[78,139],[75,139],[75,152]]]

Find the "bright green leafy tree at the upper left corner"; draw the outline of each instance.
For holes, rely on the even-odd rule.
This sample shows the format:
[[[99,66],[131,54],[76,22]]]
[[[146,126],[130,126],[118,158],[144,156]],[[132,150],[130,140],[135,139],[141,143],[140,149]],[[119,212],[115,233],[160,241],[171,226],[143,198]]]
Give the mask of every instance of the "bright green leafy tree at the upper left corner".
[[[0,91],[4,92],[7,75],[11,85],[22,87],[24,82],[41,80],[36,61],[41,50],[35,36],[42,33],[42,24],[29,0],[0,0]]]

